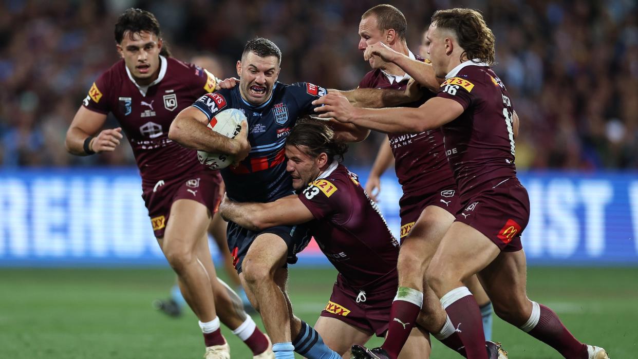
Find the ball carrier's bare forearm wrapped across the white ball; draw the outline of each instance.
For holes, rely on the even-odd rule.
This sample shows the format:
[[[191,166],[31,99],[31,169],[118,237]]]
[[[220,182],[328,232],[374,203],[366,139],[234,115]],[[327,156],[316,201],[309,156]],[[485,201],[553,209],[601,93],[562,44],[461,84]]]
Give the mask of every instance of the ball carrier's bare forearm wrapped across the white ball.
[[[168,129],[168,138],[190,149],[237,154],[239,147],[231,138],[219,135],[194,117],[177,115]]]

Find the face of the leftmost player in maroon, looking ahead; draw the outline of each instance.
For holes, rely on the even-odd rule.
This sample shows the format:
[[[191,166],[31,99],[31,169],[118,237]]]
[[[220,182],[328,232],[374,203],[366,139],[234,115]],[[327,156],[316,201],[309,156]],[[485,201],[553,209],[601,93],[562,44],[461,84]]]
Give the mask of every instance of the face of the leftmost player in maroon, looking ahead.
[[[138,85],[148,85],[159,75],[159,51],[161,40],[148,31],[131,33],[125,31],[122,42],[117,44],[117,52]]]

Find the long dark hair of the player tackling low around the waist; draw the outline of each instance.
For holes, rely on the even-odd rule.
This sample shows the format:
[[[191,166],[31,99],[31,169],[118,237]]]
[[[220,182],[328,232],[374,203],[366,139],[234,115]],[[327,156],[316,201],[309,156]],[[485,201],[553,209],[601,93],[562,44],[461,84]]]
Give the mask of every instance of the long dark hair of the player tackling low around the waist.
[[[286,145],[293,145],[313,157],[325,153],[329,163],[334,158],[343,161],[343,154],[348,151],[348,145],[335,142],[334,131],[325,121],[313,119],[297,122],[286,139]]]

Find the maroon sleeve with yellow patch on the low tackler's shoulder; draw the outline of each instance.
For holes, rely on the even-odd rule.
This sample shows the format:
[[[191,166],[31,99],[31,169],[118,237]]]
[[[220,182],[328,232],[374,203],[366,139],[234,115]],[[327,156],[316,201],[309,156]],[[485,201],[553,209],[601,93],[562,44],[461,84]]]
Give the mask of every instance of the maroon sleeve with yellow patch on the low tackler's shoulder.
[[[341,217],[343,212],[350,211],[352,206],[348,206],[350,199],[345,186],[339,186],[343,187],[341,191],[338,186],[338,181],[334,179],[318,179],[299,194],[299,199],[316,219],[327,216]]]

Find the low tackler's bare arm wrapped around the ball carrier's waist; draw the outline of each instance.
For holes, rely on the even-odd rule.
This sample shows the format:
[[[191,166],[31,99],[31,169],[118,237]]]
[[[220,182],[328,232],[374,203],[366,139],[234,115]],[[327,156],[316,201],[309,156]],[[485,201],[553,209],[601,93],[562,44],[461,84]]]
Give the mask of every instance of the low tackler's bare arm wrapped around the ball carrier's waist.
[[[251,231],[306,223],[315,218],[297,196],[287,196],[269,203],[242,203],[225,197],[219,205],[219,212],[224,219]]]

